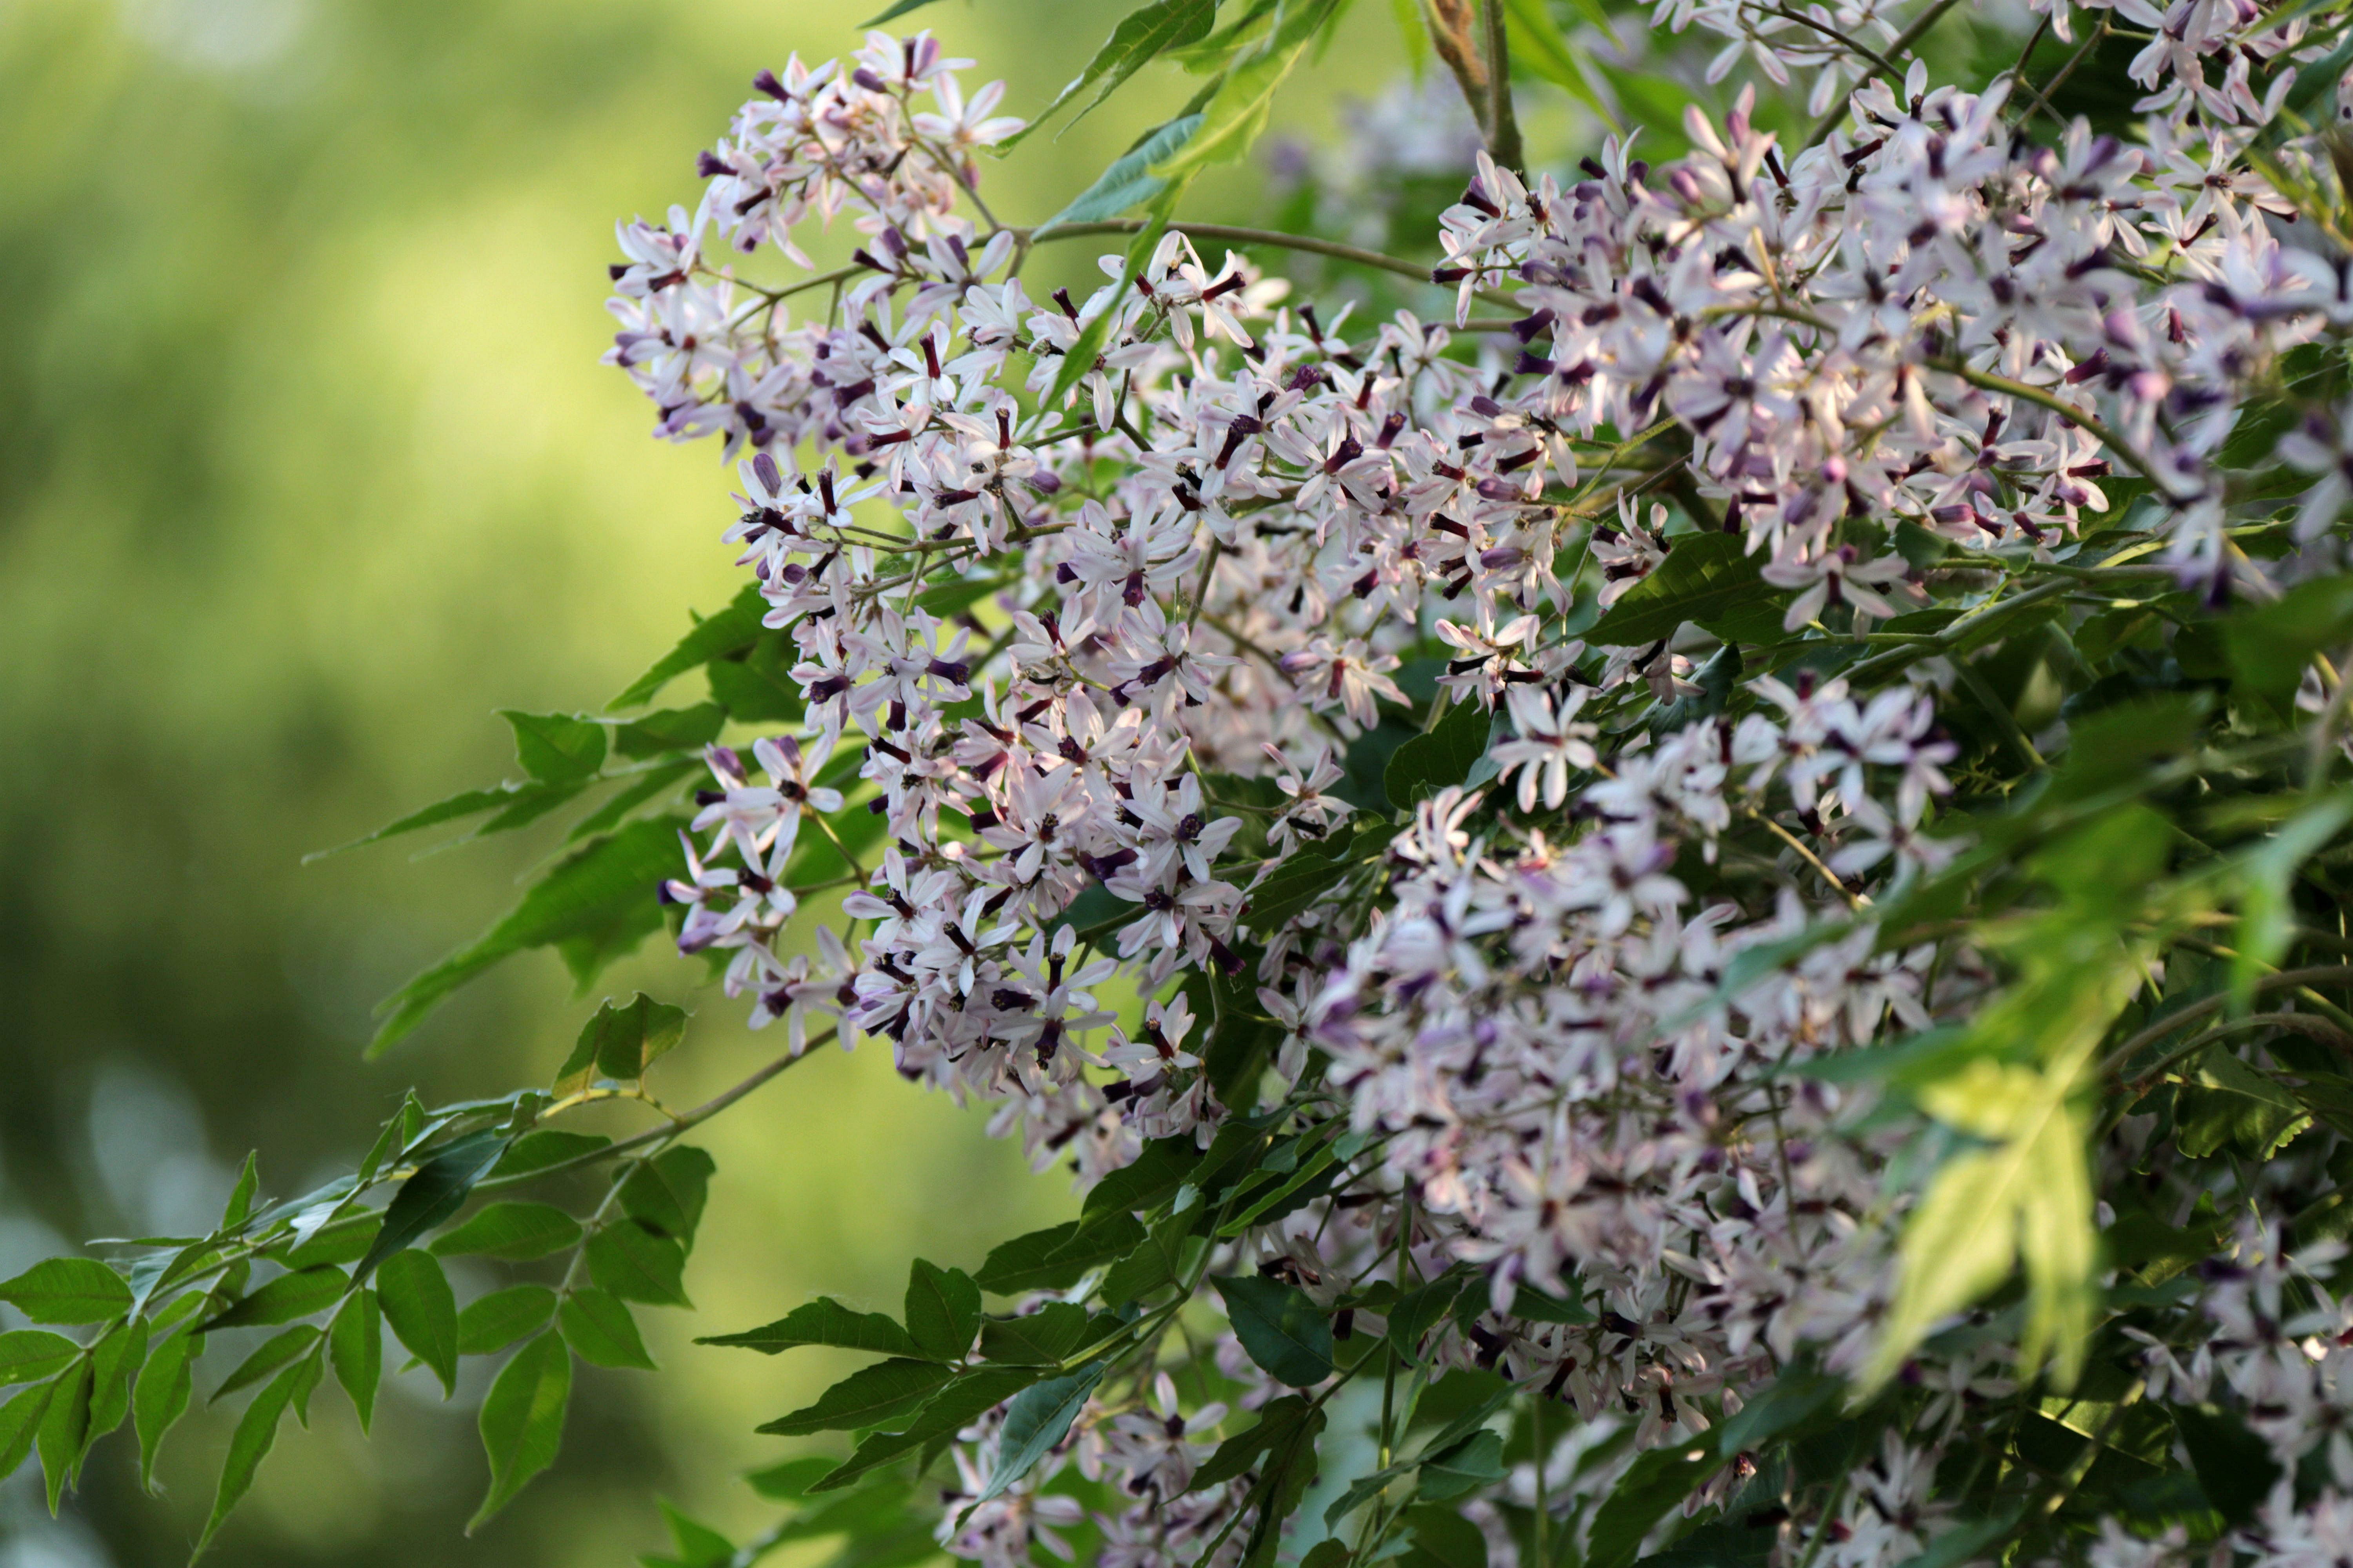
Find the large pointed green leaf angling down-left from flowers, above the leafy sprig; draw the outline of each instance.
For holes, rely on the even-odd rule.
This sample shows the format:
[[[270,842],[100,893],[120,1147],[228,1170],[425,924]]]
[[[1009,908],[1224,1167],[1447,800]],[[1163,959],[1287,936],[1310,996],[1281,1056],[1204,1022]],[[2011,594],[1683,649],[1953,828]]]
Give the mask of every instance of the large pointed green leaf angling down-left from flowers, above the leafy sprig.
[[[480,938],[384,999],[384,1025],[367,1053],[381,1056],[424,1023],[449,992],[499,959],[525,947],[574,945],[586,964],[602,964],[661,926],[656,889],[678,870],[678,820],[628,823],[607,839],[562,860]],[[567,957],[569,961],[569,957]]]

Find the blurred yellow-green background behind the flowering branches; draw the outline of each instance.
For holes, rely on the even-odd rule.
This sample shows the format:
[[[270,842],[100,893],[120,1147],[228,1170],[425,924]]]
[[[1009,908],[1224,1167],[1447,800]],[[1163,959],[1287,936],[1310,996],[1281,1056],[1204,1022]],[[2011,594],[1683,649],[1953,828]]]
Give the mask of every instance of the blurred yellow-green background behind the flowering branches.
[[[647,440],[598,364],[612,223],[692,202],[753,71],[856,47],[873,2],[0,0],[0,1276],[209,1227],[247,1150],[264,1192],[301,1192],[409,1084],[494,1093],[562,1058],[595,997],[539,952],[360,1063],[372,1004],[560,830],[299,860],[513,771],[494,708],[595,708],[732,595],[715,449]],[[913,21],[1035,113],[1111,19]],[[1360,5],[1278,127],[1329,141],[1400,68],[1391,7]],[[1052,214],[1191,87],[1151,71],[1021,148],[993,207]],[[1252,165],[1191,209],[1273,200]],[[1089,275],[1068,254],[1031,287]],[[696,976],[654,943],[598,987],[699,1009],[661,1070],[685,1103],[774,1051]],[[661,1544],[656,1493],[748,1526],[736,1472],[786,1453],[751,1427],[838,1368],[692,1333],[812,1291],[887,1305],[908,1255],[974,1265],[1073,1201],[873,1048],[704,1143],[699,1312],[647,1314],[659,1375],[584,1375],[558,1469],[482,1537],[480,1387],[445,1406],[412,1373],[372,1443],[332,1392],[289,1425],[214,1561],[626,1563]],[[174,1432],[160,1500],[108,1439],[59,1523],[19,1474],[0,1568],[181,1563],[226,1436],[224,1413]]]

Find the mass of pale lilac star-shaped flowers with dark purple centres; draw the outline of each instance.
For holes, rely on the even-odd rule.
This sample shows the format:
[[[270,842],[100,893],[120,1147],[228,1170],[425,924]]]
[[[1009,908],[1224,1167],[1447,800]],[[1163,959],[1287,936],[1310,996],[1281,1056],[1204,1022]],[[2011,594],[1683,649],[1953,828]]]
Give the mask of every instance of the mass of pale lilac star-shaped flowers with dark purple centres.
[[[1741,54],[1774,82],[1814,71],[1821,113],[1871,71],[1854,35],[1899,35],[1882,9],[1659,19],[1734,38],[1711,80]],[[1085,299],[1031,299],[1054,235],[976,197],[972,148],[1014,129],[998,87],[965,101],[929,35],[762,75],[704,155],[699,212],[626,226],[614,270],[612,362],[659,435],[739,458],[727,538],[802,705],[751,762],[708,752],[704,837],[666,889],[680,947],[725,957],[729,994],[795,1048],[814,1016],[887,1037],[908,1079],[995,1103],[998,1131],[1085,1182],[1148,1140],[1209,1147],[1268,1086],[1346,1117],[1365,1159],[1341,1187],[1228,1237],[1219,1267],[1325,1305],[1339,1281],[1468,1267],[1435,1354],[1586,1420],[1574,1474],[1555,1488],[1537,1455],[1515,1507],[1572,1507],[1793,1361],[1859,1373],[1915,1126],[1800,1070],[1965,1020],[1995,983],[1965,943],[1882,950],[1873,917],[1958,844],[1929,832],[1958,757],[1941,632],[1998,595],[1937,607],[1929,571],[2057,564],[2122,503],[2207,604],[2337,564],[2344,418],[2280,444],[2320,475],[2285,569],[2233,543],[2221,456],[2282,357],[2353,324],[2344,259],[2287,244],[2245,160],[2292,75],[2259,96],[2249,71],[2311,54],[2308,21],[2118,14],[2160,28],[2141,146],[2082,122],[2038,141],[2007,80],[1929,87],[1915,63],[1809,146],[1762,132],[1751,89],[1722,125],[1692,110],[1694,153],[1659,169],[1631,139],[1569,181],[1482,153],[1438,230],[1452,324],[1320,315],[1184,226],[1104,256]],[[835,273],[753,289],[706,259],[725,240],[807,268],[795,230],[835,214],[859,233]],[[1480,303],[1511,315],[1475,322]],[[1609,637],[1711,534],[1772,614]],[[1793,654],[1824,642],[1871,651],[1845,675]],[[1769,672],[1727,710],[1741,644]],[[1464,712],[1487,736],[1473,776],[1388,799],[1381,736]],[[1769,856],[1729,846],[1748,830]],[[835,884],[840,929],[795,950]],[[1744,964],[1826,922],[1845,933]],[[1228,1105],[1209,1058],[1252,1001],[1278,1044]],[[2252,1349],[2167,1361],[2177,1396],[2231,1380],[2285,1410],[2264,1436],[2301,1460],[2334,1432],[2337,1349],[2282,1340],[2322,1328],[2282,1331],[2257,1286],[2209,1309]],[[1247,1356],[1219,1375],[1240,1408],[1271,1396]],[[1951,1530],[1937,1467],[2017,1385],[1977,1349],[1908,1378],[1927,1415],[1859,1460],[1828,1563]],[[1165,1375],[1080,1415],[1056,1455],[1132,1500],[1094,1521],[1106,1556],[1235,1556],[1247,1488],[1188,1490],[1221,1418]],[[1002,1422],[965,1432],[941,1542],[1002,1568],[1066,1554],[1082,1509],[1040,1490],[1059,1458],[991,1486]],[[1577,1458],[1614,1427],[1633,1443]],[[2346,1486],[2353,1446],[2329,1443]],[[2282,1507],[2247,1549],[2306,1561],[2273,1542],[2341,1505]]]

